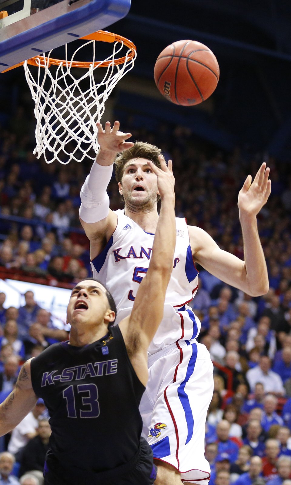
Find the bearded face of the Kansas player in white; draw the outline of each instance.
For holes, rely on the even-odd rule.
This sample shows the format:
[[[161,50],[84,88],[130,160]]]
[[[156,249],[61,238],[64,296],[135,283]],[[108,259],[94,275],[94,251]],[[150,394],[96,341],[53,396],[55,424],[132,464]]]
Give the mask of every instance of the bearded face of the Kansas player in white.
[[[156,205],[157,177],[147,159],[129,160],[124,166],[122,183],[118,186],[126,206],[143,209]]]

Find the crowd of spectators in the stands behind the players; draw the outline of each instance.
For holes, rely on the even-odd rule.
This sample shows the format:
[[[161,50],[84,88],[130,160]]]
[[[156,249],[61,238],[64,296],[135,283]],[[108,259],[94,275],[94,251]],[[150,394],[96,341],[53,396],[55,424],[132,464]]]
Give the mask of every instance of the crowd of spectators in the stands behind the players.
[[[89,244],[78,220],[80,188],[91,161],[46,164],[32,154],[32,135],[21,109],[0,131],[0,276],[72,287],[91,275]],[[23,133],[19,127],[26,126]],[[199,269],[199,289],[191,303],[201,321],[199,341],[214,362],[214,395],[206,423],[205,455],[211,485],[291,485],[291,173],[288,165],[235,148],[223,153],[194,140],[183,127],[139,129],[134,119],[124,131],[148,141],[173,160],[176,215],[205,229],[219,246],[243,258],[237,195],[262,160],[271,168],[272,194],[258,217],[270,290],[251,298]],[[112,209],[122,207],[114,179]],[[21,361],[54,341],[67,339],[51,316],[25,294],[25,306],[5,307],[0,293],[0,401],[9,394]],[[47,414],[38,402],[34,427],[1,438],[0,484],[41,484],[31,470],[44,459]],[[38,418],[41,417],[41,420]],[[32,431],[31,431],[32,429]],[[15,433],[22,432],[22,439]],[[19,446],[20,443],[20,446]],[[15,462],[16,460],[16,462]],[[16,463],[16,465],[15,465]],[[18,478],[5,482],[14,469]],[[6,470],[6,471],[5,471]],[[9,472],[7,471],[9,470]],[[29,473],[27,473],[29,472]],[[24,475],[23,475],[24,474]],[[22,475],[22,478],[19,477]],[[26,481],[23,481],[23,476]],[[1,481],[2,480],[2,481]],[[38,480],[38,483],[36,483]]]

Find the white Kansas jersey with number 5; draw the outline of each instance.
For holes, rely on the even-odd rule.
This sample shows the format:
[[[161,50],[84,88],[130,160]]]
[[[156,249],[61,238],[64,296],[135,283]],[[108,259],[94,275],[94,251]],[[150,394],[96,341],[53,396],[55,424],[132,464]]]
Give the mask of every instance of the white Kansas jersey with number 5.
[[[115,212],[118,216],[117,227],[91,265],[93,277],[104,283],[114,298],[116,323],[119,323],[131,312],[138,286],[148,270],[154,234],[145,232],[124,215],[124,210]],[[198,288],[198,271],[184,218],[176,217],[176,232],[173,271],[166,293],[164,317],[151,342],[149,354],[180,339],[195,339],[200,331],[199,319],[187,306]]]

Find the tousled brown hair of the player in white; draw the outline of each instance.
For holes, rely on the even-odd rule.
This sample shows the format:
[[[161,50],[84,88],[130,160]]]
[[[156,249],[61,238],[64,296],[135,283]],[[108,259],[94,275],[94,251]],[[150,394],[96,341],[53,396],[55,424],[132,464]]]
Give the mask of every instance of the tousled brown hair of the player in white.
[[[145,158],[151,160],[154,165],[161,168],[158,156],[161,155],[162,150],[155,145],[148,142],[135,142],[134,146],[119,153],[114,161],[115,178],[117,182],[122,183],[124,165],[132,158]],[[157,195],[157,202],[160,200],[160,195]]]

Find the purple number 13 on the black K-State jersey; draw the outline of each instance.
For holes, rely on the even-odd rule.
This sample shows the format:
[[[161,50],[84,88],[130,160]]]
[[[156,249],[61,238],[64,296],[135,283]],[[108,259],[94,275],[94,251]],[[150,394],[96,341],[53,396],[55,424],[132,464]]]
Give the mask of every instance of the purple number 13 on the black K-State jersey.
[[[82,404],[76,409],[75,393],[80,394]],[[98,389],[95,384],[78,384],[77,389],[69,386],[62,391],[67,402],[68,418],[98,418],[100,407],[98,403]]]

